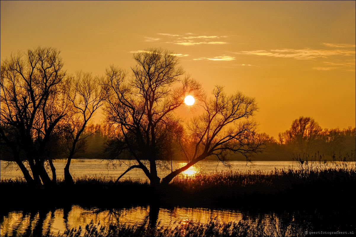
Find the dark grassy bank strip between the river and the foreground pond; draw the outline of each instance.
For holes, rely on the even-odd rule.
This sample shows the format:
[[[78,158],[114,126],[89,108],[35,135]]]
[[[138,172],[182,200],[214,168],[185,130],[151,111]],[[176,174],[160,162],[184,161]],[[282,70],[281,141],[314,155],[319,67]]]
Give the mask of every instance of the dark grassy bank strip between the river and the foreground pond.
[[[75,185],[67,187],[63,179],[52,188],[29,187],[24,179],[1,180],[2,193],[8,197],[7,207],[35,205],[43,201],[53,203],[107,205],[150,204],[189,206],[229,206],[243,208],[282,208],[286,203],[295,208],[323,206],[354,200],[355,169],[330,168],[324,170],[225,171],[178,176],[169,185],[153,192],[149,183],[140,179],[123,179],[115,184],[115,177],[79,177]],[[85,195],[85,197],[83,196]]]

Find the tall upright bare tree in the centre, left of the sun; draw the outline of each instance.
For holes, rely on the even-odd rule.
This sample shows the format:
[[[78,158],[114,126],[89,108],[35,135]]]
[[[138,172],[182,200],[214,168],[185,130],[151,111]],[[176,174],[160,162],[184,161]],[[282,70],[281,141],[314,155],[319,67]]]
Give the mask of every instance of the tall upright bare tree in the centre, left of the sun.
[[[157,186],[157,166],[169,158],[165,144],[180,123],[174,112],[188,94],[201,96],[201,86],[189,77],[180,79],[184,70],[173,52],[152,48],[133,58],[131,77],[114,66],[106,70],[106,119],[119,129],[117,149],[129,151],[136,161],[126,172],[140,168]]]

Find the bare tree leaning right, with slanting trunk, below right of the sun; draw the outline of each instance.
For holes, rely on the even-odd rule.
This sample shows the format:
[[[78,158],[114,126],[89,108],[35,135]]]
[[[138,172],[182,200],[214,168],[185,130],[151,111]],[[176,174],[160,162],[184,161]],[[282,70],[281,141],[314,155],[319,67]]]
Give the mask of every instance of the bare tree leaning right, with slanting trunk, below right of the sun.
[[[242,153],[250,161],[251,155],[264,147],[253,119],[257,111],[255,99],[241,92],[226,96],[221,86],[216,86],[212,94],[212,98],[204,98],[203,113],[190,120],[185,136],[179,139],[187,165],[168,174],[162,183],[168,184],[179,173],[209,156],[229,165],[231,152]]]

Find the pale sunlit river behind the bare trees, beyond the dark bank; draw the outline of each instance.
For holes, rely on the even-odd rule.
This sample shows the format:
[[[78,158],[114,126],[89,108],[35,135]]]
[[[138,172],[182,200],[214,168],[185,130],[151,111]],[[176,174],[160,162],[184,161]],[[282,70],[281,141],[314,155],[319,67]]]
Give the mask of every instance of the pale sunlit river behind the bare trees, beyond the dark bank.
[[[54,167],[56,167],[57,178],[64,177],[64,166],[66,166],[67,160],[55,160]],[[248,170],[260,170],[260,171],[274,171],[274,169],[286,169],[286,168],[298,168],[297,162],[293,161],[254,161],[253,163],[246,163],[246,161],[230,161],[231,167],[228,168],[221,162],[217,161],[200,161],[194,166],[185,171],[184,175],[194,176],[201,173],[220,172],[227,170],[235,171],[248,171]],[[112,164],[103,160],[95,159],[73,159],[70,164],[70,174],[73,177],[80,176],[110,176],[119,177],[130,165],[130,161],[125,161],[121,166],[119,163]],[[186,163],[182,161],[173,161],[173,170],[182,167]],[[164,174],[168,174],[171,170],[171,163],[168,162],[166,169],[160,169],[158,176],[163,178]],[[1,166],[1,179],[15,179],[17,177],[23,177],[22,172],[15,162],[0,161]],[[51,176],[50,176],[51,177]],[[132,179],[147,179],[145,173],[141,169],[132,169],[125,174],[123,178]]]

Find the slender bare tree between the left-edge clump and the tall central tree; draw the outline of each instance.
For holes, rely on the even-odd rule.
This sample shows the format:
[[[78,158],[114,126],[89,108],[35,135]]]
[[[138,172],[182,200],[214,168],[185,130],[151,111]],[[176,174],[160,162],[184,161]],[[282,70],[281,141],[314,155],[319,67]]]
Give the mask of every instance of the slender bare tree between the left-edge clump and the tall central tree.
[[[77,152],[85,150],[86,140],[91,133],[83,133],[89,120],[96,110],[103,105],[105,91],[100,89],[97,79],[91,73],[77,72],[77,77],[68,77],[68,116],[65,120],[66,147],[68,152],[67,164],[64,167],[64,180],[66,184],[74,184],[69,172],[70,161]]]

